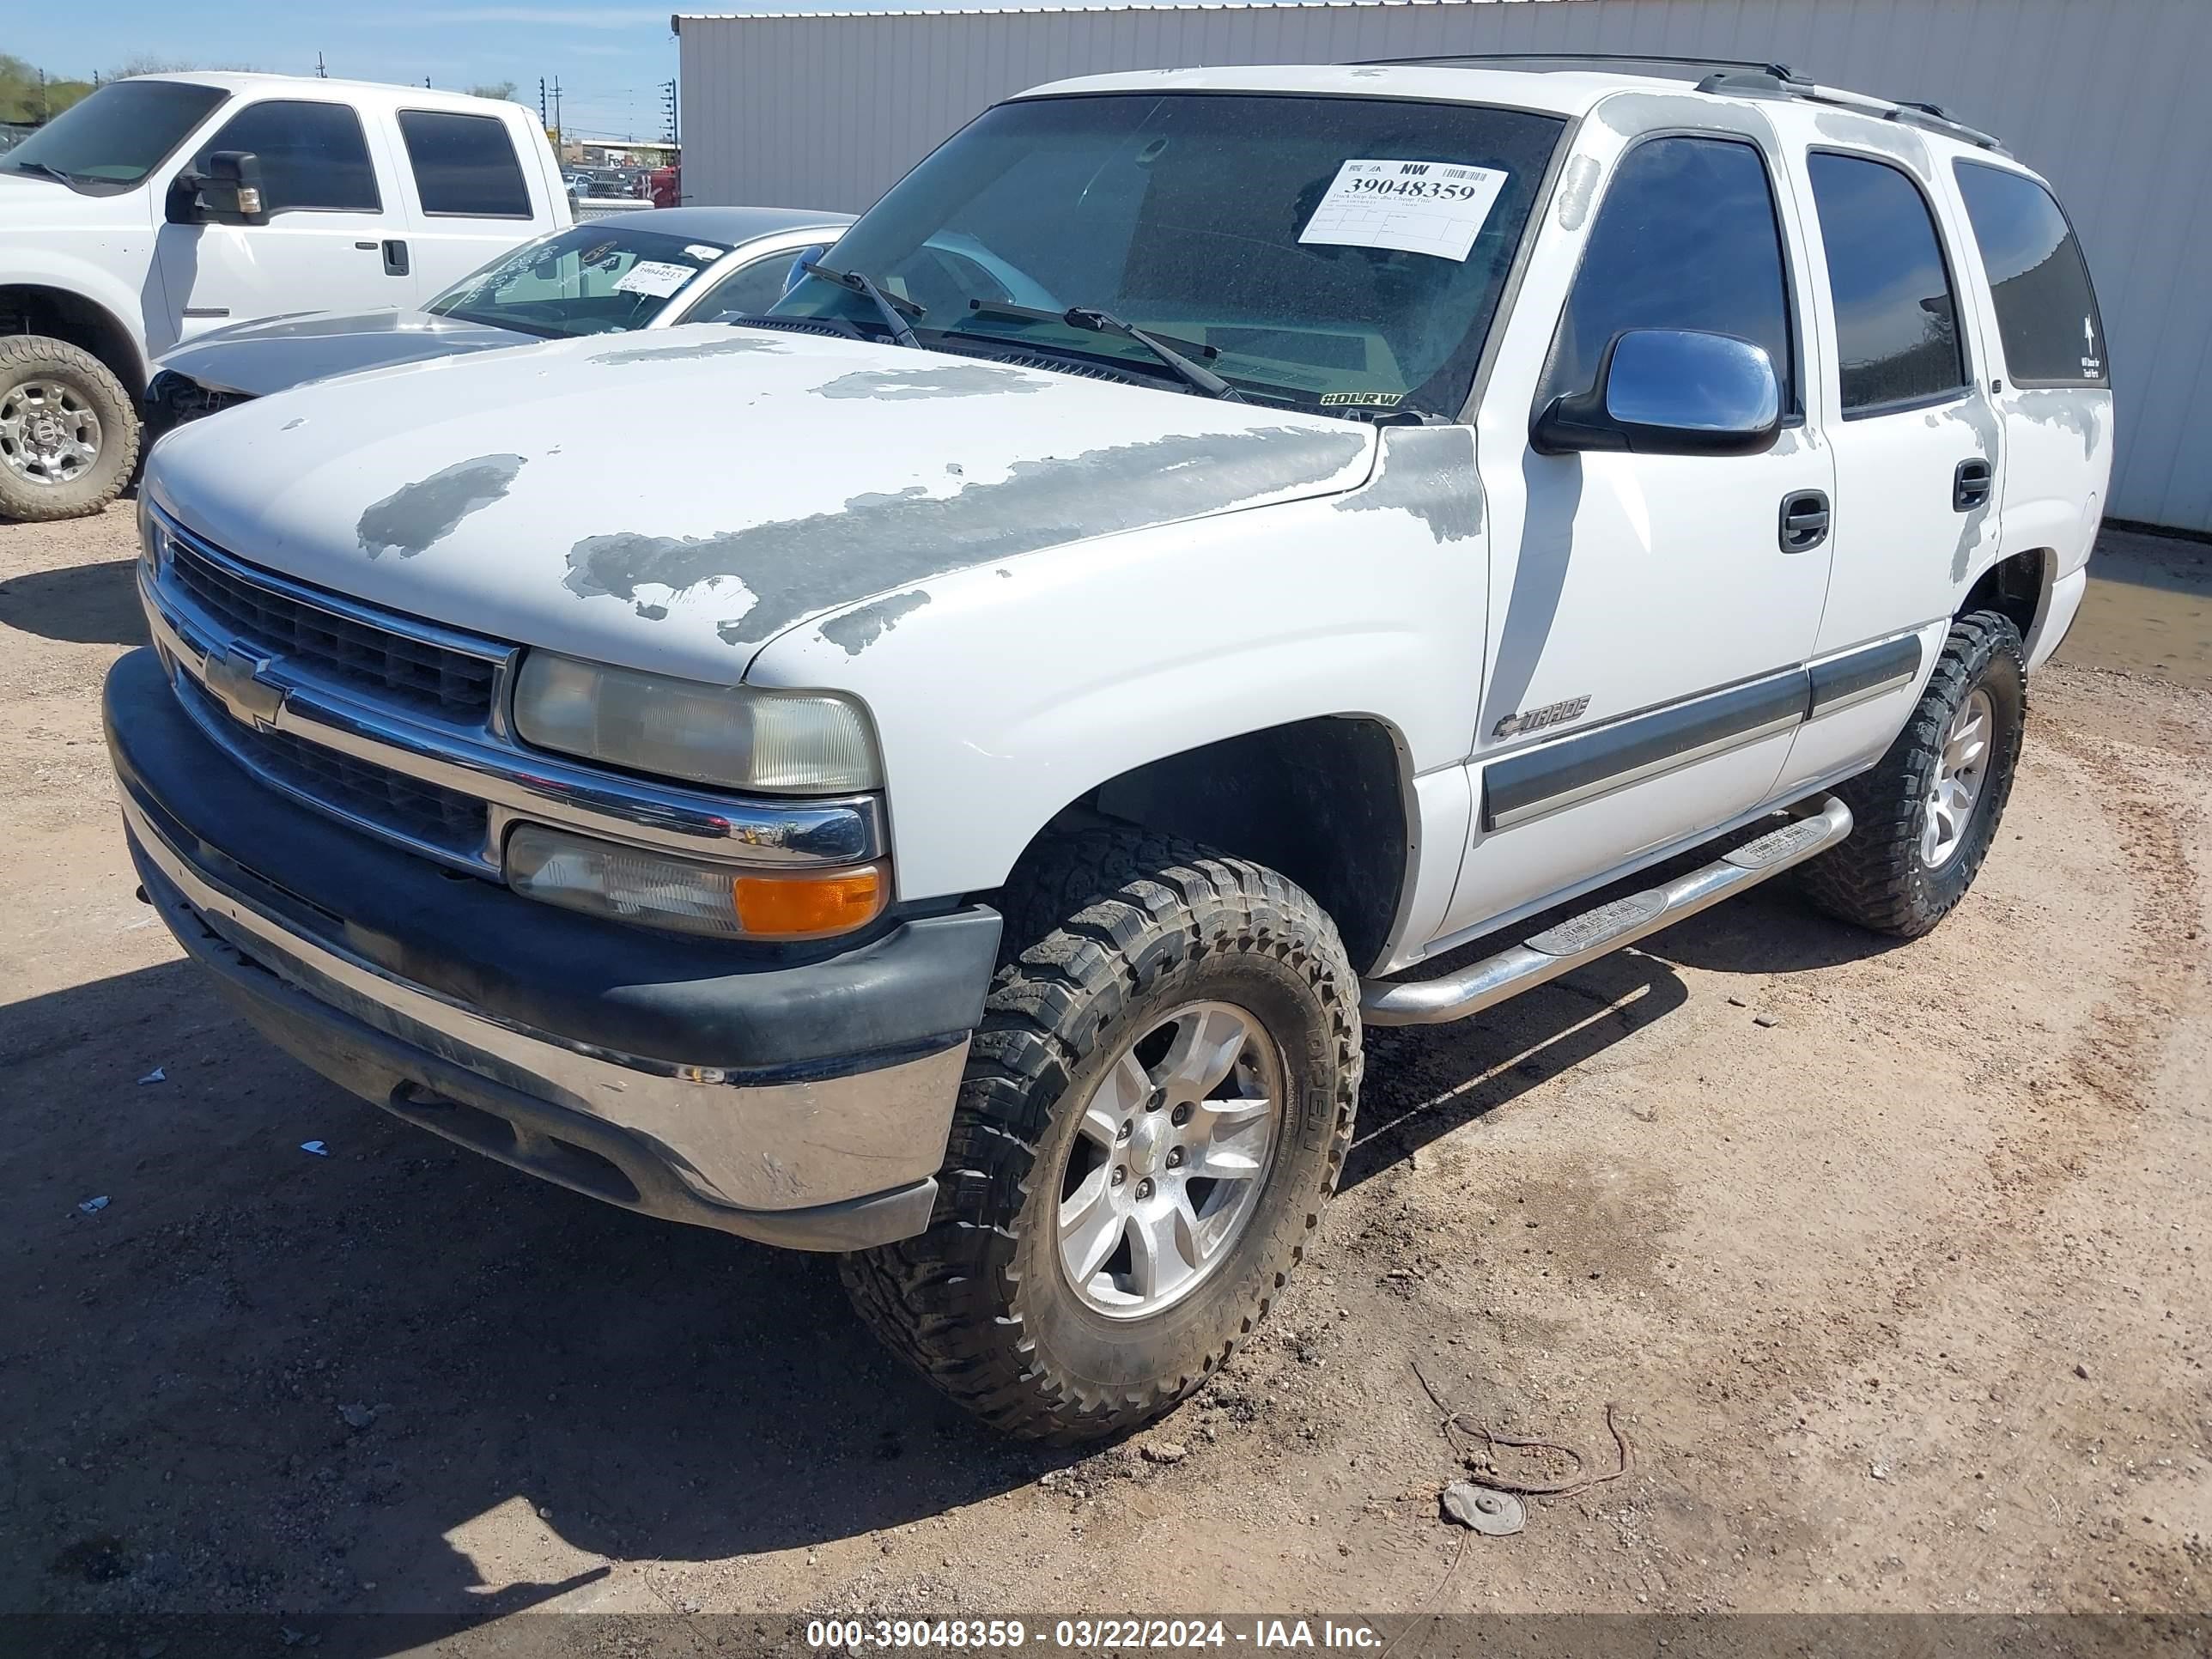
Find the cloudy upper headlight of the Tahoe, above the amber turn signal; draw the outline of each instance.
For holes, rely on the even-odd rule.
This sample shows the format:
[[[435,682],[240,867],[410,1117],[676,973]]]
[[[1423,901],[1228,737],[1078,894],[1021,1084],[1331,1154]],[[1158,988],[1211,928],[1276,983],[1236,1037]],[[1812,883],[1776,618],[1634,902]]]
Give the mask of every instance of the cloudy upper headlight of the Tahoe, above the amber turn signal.
[[[515,679],[524,743],[655,776],[774,794],[883,781],[858,703],[832,692],[706,686],[533,650]]]

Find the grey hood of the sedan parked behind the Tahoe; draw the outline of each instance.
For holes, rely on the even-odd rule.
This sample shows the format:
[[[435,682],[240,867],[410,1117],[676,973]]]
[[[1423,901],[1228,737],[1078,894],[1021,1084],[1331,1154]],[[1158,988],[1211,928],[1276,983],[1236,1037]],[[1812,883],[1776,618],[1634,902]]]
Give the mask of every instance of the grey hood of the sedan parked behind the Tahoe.
[[[535,336],[429,312],[294,312],[195,334],[161,356],[155,369],[175,369],[217,392],[265,398],[334,374],[515,345],[535,345]]]

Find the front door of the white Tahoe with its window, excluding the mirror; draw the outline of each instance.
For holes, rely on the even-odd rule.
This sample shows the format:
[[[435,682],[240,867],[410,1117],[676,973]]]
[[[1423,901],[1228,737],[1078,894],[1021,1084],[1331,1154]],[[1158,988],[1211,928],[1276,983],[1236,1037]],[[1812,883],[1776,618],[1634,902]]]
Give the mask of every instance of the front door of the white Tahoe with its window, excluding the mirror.
[[[1683,102],[1621,95],[1582,124],[1482,392],[1493,604],[1444,942],[1747,814],[1805,712],[1834,489],[1805,252],[1778,144],[1747,131],[1765,122],[1723,128],[1717,106],[1714,131],[1681,131]],[[1586,392],[1630,327],[1765,347],[1774,447],[1535,453],[1533,414]]]

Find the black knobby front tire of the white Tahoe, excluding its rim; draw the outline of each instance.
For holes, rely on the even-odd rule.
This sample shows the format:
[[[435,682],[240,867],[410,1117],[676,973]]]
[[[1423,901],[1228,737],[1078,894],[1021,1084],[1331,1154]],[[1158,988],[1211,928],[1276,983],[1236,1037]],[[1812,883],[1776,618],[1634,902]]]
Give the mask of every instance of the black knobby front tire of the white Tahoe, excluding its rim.
[[[1006,889],[1006,940],[969,1051],[931,1228],[843,1259],[876,1334],[984,1422],[1073,1444],[1192,1394],[1250,1336],[1336,1190],[1360,1084],[1358,975],[1283,876],[1183,841],[1084,830]],[[1285,1119],[1243,1232],[1144,1318],[1088,1307],[1060,1265],[1060,1181],[1115,1055],[1192,1000],[1252,1011]]]

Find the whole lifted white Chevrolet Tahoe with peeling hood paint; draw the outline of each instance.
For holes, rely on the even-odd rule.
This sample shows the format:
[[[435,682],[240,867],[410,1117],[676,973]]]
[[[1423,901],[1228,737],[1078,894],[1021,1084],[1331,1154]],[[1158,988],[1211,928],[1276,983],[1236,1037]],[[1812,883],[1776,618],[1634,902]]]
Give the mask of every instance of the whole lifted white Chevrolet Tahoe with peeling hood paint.
[[[945,1391],[1075,1440],[1267,1312],[1367,1024],[1790,867],[1958,905],[2110,460],[2066,217],[1940,113],[1106,75],[763,316],[166,438],[108,737],[148,900],[279,1044],[847,1252]]]

